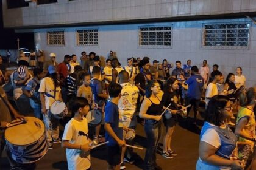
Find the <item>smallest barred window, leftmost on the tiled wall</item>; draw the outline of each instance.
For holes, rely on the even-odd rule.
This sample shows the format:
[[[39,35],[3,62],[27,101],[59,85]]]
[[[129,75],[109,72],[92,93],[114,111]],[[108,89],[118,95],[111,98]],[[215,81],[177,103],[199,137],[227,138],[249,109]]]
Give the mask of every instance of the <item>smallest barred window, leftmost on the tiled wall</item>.
[[[48,31],[47,32],[48,45],[65,45],[64,31]]]

